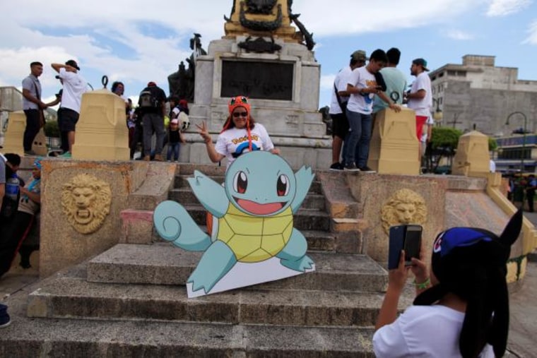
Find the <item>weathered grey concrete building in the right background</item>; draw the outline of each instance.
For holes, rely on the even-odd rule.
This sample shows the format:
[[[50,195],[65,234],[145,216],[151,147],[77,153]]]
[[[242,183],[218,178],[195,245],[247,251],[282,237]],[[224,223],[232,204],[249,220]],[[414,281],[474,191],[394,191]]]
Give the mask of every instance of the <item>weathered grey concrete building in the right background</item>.
[[[462,64],[446,64],[430,72],[435,109],[442,109],[442,126],[477,129],[489,136],[507,136],[523,127],[535,133],[537,80],[519,80],[516,67],[496,67],[495,56],[465,55]]]

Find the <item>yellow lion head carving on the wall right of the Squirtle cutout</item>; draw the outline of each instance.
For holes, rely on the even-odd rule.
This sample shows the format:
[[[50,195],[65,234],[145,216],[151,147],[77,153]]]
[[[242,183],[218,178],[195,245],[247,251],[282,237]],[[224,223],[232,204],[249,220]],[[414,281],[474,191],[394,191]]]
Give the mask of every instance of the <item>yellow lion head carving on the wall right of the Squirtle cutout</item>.
[[[394,225],[419,224],[427,221],[427,206],[420,194],[410,189],[396,191],[380,210],[382,229],[389,234]]]

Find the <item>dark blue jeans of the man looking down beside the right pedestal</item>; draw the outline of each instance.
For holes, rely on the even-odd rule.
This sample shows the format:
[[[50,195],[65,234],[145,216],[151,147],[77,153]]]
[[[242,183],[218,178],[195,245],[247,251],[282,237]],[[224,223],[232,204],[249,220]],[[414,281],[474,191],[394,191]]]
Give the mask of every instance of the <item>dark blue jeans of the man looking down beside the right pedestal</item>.
[[[361,168],[367,166],[371,141],[371,114],[362,114],[347,109],[349,132],[345,137],[345,164]]]

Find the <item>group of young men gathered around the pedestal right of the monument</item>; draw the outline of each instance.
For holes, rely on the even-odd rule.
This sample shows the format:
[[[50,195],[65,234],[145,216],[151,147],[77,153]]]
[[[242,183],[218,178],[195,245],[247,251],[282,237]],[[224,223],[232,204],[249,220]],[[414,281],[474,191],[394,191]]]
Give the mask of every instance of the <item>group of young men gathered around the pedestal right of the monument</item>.
[[[421,161],[422,143],[430,141],[433,124],[431,83],[426,73],[429,69],[425,59],[413,60],[411,75],[416,79],[407,90],[406,76],[396,68],[400,57],[399,49],[392,47],[387,52],[374,50],[367,61],[366,52],[357,50],[350,55],[348,66],[336,75],[329,109],[333,128],[331,170],[374,172],[367,166],[367,159],[375,117],[386,108],[400,112],[403,103],[416,114]]]

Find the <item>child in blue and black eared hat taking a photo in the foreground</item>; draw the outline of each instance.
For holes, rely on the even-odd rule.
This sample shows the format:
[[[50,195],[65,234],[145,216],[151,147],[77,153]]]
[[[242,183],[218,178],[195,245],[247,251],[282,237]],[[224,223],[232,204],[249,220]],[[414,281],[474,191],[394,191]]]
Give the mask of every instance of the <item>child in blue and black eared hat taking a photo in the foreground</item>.
[[[519,237],[522,211],[497,237],[486,229],[454,227],[434,241],[429,276],[412,258],[389,270],[388,289],[373,335],[376,357],[502,357],[509,331],[507,260]],[[397,317],[408,270],[415,275],[413,306]]]

